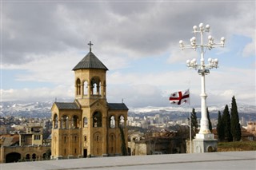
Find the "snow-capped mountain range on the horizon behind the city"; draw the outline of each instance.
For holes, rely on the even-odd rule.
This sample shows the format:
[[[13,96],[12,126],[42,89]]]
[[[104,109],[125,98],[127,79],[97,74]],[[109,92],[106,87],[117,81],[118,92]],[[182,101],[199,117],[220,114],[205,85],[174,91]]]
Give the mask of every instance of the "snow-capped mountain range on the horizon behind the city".
[[[2,101],[0,105],[0,116],[21,116],[21,117],[50,117],[51,116],[51,106],[53,101],[45,102],[25,102],[25,101]],[[225,105],[209,105],[208,109],[210,113],[218,113],[218,111],[223,111]],[[229,108],[231,106],[229,105]],[[192,108],[195,109],[197,113],[201,112],[201,106],[189,106],[189,105],[170,105],[170,107],[154,107],[148,106],[143,108],[133,108],[129,107],[129,114],[178,114],[187,115]],[[255,105],[245,105],[238,104],[238,113],[241,115],[243,113],[250,113],[256,116],[256,106]]]

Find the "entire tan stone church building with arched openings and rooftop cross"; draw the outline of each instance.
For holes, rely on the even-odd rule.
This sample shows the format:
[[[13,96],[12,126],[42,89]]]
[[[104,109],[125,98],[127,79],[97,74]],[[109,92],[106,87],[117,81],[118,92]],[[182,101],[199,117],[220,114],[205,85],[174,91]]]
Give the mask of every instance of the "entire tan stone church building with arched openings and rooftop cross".
[[[52,106],[51,158],[121,156],[127,152],[124,103],[106,101],[105,65],[91,52],[75,65],[74,102]]]

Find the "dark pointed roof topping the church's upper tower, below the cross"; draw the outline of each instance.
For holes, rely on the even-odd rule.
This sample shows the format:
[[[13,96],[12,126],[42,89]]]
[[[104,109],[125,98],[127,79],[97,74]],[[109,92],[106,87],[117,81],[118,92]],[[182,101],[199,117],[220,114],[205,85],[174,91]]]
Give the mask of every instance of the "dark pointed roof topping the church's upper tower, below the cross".
[[[82,58],[82,60],[75,65],[74,67],[74,71],[77,69],[105,69],[105,70],[109,70],[106,68],[105,65],[103,65],[102,61],[100,61],[98,59],[98,57],[96,57],[94,55],[94,53],[92,53],[91,51],[89,53],[87,53],[86,57]]]

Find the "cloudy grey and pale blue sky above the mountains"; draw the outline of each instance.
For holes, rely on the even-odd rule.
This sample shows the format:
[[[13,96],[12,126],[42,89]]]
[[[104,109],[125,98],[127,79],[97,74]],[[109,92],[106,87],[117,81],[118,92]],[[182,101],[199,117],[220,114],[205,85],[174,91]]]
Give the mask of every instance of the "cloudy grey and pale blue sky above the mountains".
[[[89,52],[106,65],[107,101],[169,106],[190,88],[200,104],[201,77],[186,67],[199,50],[192,27],[210,25],[206,50],[219,68],[206,76],[207,104],[255,105],[255,1],[1,1],[1,101],[74,100],[74,66]],[[204,34],[205,38],[209,34]],[[197,37],[198,38],[198,37]]]

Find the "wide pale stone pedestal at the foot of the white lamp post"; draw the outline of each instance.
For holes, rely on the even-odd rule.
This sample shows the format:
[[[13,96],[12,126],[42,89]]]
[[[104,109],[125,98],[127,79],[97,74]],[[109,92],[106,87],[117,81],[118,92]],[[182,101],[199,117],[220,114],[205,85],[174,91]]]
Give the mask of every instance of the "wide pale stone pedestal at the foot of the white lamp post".
[[[213,133],[196,134],[193,140],[194,153],[217,152],[218,140],[214,139]]]

